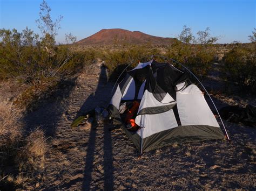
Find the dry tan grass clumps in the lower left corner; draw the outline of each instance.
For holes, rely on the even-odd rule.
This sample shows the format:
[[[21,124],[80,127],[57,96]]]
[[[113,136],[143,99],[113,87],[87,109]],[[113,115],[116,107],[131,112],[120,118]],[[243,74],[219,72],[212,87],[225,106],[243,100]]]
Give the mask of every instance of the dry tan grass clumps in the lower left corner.
[[[22,111],[10,103],[0,103],[0,137],[0,186],[5,185],[6,189],[21,186],[28,179],[22,173],[31,175],[43,170],[44,132],[37,128],[27,133],[22,123]],[[6,168],[8,166],[11,171]]]

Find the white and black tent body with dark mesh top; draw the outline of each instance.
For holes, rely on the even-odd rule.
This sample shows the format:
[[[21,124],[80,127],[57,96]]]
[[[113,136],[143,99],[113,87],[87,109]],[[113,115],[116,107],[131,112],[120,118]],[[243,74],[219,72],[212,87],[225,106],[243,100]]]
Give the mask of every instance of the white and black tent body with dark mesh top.
[[[173,143],[224,139],[204,94],[170,63],[152,60],[127,71],[109,104],[110,115],[121,121],[120,103],[134,100],[140,101],[135,118],[140,129],[122,128],[141,152]]]

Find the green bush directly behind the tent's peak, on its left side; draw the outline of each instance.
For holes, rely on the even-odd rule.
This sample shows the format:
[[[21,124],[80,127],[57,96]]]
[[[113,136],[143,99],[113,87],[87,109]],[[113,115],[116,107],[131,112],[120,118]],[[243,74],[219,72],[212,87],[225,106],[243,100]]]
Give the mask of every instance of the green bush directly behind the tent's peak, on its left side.
[[[159,54],[157,48],[129,46],[128,48],[105,51],[103,60],[105,60],[105,66],[109,69],[110,80],[116,80],[128,65],[130,67],[127,69],[131,69],[138,64],[138,61],[149,61],[150,56],[154,54]]]

